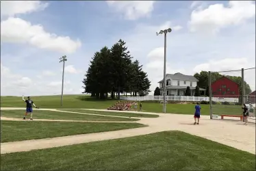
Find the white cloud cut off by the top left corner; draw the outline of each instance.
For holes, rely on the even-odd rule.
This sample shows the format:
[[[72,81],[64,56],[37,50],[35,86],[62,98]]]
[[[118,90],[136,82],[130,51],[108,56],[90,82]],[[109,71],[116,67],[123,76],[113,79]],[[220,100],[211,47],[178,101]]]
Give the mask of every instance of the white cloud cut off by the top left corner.
[[[41,1],[1,1],[1,16],[14,16],[44,10],[49,3]]]

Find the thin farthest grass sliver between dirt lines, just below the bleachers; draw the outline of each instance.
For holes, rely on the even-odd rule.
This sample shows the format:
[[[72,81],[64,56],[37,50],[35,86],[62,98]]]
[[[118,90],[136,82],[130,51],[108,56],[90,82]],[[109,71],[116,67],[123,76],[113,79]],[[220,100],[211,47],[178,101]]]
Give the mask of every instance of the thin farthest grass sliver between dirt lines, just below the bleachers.
[[[129,112],[115,112],[115,111],[95,111],[95,110],[86,110],[86,109],[58,109],[61,111],[73,111],[80,112],[85,114],[100,114],[107,116],[126,116],[126,117],[138,117],[138,118],[157,118],[158,115],[154,114],[139,114],[139,113],[129,113]]]

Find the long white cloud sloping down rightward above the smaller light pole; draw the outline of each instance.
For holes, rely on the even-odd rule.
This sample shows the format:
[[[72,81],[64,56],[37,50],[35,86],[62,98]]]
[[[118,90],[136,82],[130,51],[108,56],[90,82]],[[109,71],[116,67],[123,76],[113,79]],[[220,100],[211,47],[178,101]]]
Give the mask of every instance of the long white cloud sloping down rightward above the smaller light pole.
[[[14,17],[1,21],[1,42],[29,43],[40,49],[60,53],[73,53],[81,47],[79,40],[47,33],[41,25],[31,25],[21,18]]]

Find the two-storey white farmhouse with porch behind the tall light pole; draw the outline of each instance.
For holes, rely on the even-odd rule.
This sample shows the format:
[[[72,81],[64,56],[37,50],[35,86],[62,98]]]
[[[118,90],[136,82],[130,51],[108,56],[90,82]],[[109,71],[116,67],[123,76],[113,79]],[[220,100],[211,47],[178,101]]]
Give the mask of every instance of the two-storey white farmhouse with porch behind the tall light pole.
[[[189,86],[191,96],[194,96],[198,81],[199,80],[192,75],[183,75],[181,73],[175,73],[174,75],[166,74],[166,95],[184,96],[185,90]],[[159,81],[158,83],[161,95],[163,95],[164,79],[162,79],[162,81]],[[199,90],[205,92],[205,89],[203,88],[199,88]]]

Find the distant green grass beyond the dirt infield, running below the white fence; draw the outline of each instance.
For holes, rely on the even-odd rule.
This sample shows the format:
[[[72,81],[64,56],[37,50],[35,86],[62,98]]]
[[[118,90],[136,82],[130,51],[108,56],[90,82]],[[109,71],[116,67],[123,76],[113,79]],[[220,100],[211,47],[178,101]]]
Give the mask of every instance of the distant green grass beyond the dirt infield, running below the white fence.
[[[84,95],[64,95],[63,107],[60,106],[60,96],[33,96],[32,100],[41,108],[55,109],[107,109],[117,102],[116,99],[97,100]],[[1,96],[1,107],[25,107],[22,97]],[[202,115],[209,115],[209,105],[201,105]],[[142,111],[162,112],[163,104],[142,103]],[[167,104],[166,112],[172,114],[194,114],[194,105],[188,104]],[[215,114],[241,114],[240,106],[214,105]]]

